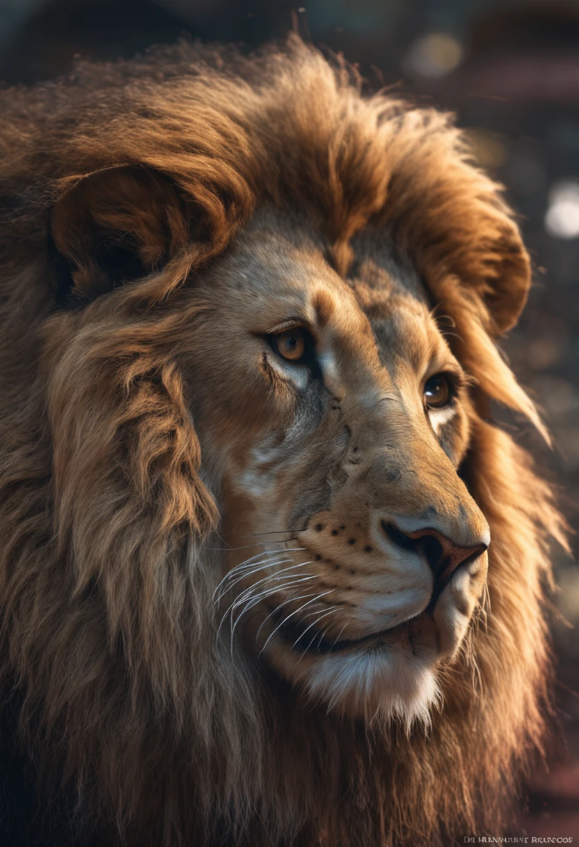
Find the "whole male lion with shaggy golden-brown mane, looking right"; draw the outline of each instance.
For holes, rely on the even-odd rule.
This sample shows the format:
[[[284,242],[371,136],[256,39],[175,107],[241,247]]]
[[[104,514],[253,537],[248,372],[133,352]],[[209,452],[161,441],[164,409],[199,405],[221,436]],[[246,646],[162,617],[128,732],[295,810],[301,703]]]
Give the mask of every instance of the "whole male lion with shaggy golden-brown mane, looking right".
[[[362,83],[292,36],[2,93],[3,695],[83,838],[462,843],[542,754],[529,257]]]

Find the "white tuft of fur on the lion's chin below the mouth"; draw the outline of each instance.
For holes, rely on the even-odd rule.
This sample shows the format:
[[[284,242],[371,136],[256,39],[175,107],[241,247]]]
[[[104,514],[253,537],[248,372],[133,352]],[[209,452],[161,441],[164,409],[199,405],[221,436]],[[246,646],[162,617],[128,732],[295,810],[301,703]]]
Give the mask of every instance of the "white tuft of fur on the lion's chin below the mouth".
[[[415,722],[430,724],[431,711],[442,694],[434,674],[433,656],[413,656],[389,645],[324,656],[303,680],[317,703],[366,722],[397,718],[407,730]]]

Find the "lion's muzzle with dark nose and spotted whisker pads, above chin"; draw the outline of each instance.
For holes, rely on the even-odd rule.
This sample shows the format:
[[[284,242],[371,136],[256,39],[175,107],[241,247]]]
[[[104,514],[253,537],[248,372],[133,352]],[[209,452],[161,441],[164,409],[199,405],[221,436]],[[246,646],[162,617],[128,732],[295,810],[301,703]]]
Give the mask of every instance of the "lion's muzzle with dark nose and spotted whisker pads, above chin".
[[[466,507],[462,513],[459,522],[428,512],[428,523],[422,512],[346,516],[331,510],[313,516],[299,538],[328,592],[325,601],[342,604],[344,611],[325,620],[328,633],[366,638],[426,612],[440,630],[437,654],[453,652],[483,592],[490,542],[482,513]]]

